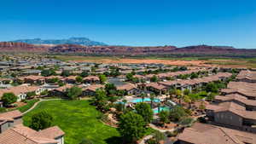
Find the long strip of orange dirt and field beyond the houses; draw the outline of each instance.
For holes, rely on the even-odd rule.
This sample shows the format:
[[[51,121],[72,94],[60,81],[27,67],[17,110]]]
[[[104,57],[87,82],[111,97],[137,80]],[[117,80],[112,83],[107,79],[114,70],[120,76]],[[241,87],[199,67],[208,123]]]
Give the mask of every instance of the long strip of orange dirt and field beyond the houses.
[[[143,59],[136,58],[120,58],[112,56],[56,56],[59,60],[68,60],[76,62],[96,62],[96,63],[160,63],[172,66],[220,66],[230,68],[256,68],[256,60],[247,59],[208,59],[208,60],[183,60],[181,59],[161,59],[146,57]]]

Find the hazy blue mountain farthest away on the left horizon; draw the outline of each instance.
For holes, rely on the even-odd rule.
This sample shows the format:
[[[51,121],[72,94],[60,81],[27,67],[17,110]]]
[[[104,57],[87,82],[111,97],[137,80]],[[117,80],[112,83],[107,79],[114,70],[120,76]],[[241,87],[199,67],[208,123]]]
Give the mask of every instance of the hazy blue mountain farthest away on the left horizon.
[[[68,39],[41,39],[41,38],[34,38],[34,39],[18,39],[10,42],[15,43],[29,43],[29,44],[79,44],[84,46],[93,46],[93,45],[100,45],[106,46],[108,44],[102,42],[92,41],[86,37],[70,37]]]

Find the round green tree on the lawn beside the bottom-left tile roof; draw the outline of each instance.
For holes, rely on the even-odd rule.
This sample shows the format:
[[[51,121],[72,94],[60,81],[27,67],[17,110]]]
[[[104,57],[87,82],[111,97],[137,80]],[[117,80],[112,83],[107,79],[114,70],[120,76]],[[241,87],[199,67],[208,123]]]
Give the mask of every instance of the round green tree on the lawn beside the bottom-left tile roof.
[[[30,128],[33,130],[44,130],[52,125],[53,117],[45,111],[41,111],[32,115]]]

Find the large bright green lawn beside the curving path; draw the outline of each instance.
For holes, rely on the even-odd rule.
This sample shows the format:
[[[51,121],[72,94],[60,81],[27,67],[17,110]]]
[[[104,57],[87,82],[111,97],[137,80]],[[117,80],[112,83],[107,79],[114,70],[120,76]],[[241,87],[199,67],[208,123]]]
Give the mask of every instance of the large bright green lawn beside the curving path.
[[[30,124],[33,113],[46,110],[55,119],[54,125],[63,130],[66,144],[78,144],[83,138],[95,144],[119,144],[119,132],[102,124],[97,117],[101,115],[89,101],[43,101],[23,117],[24,124]]]

